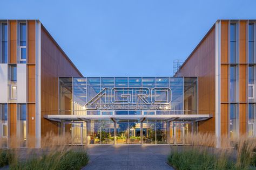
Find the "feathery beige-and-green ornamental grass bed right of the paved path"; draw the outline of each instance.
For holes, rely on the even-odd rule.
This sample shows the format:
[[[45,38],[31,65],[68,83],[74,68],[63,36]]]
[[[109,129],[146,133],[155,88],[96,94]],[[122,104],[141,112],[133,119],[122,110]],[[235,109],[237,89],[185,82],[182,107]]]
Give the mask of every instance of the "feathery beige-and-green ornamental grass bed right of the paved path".
[[[189,134],[189,146],[172,146],[167,161],[176,169],[256,169],[256,139],[222,137],[215,147],[214,134]]]

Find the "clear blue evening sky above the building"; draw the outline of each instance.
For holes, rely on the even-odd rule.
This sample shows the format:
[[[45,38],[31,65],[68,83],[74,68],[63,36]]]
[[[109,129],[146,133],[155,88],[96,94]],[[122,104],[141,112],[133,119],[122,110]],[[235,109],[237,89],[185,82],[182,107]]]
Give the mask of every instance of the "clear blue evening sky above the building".
[[[217,19],[256,1],[1,0],[1,19],[39,19],[84,76],[172,76]]]

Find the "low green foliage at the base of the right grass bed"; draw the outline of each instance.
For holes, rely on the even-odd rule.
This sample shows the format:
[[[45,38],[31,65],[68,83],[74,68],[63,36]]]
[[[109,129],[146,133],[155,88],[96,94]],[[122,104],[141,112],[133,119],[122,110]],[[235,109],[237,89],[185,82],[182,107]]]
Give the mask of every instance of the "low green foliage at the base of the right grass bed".
[[[207,151],[173,151],[168,157],[168,162],[176,169],[235,169],[232,161],[223,157],[218,159]]]

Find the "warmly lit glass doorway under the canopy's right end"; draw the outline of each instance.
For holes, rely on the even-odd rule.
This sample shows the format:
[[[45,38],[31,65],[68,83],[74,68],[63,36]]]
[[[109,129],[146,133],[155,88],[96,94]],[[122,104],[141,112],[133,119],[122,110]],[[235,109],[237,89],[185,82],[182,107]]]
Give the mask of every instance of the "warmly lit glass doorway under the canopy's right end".
[[[187,136],[192,134],[192,123],[191,122],[174,122],[174,144],[187,144]]]

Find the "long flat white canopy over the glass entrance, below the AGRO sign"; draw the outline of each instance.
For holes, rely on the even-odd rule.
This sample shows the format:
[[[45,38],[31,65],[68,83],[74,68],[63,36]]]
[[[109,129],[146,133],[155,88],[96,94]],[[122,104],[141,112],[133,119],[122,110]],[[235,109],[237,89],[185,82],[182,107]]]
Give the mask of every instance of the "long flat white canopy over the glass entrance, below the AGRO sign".
[[[62,122],[62,121],[90,121],[90,120],[102,120],[111,119],[116,121],[117,119],[138,119],[143,122],[145,119],[166,119],[167,121],[206,121],[212,118],[212,114],[204,115],[44,115],[44,118],[50,121]]]

